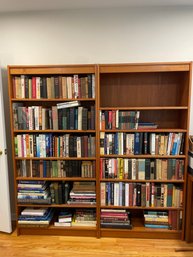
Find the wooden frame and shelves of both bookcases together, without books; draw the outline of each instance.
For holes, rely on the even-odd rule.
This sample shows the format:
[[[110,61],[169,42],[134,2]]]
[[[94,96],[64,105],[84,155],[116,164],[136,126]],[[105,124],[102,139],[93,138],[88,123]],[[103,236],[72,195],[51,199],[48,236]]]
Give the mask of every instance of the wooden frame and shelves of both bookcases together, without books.
[[[156,132],[156,133],[169,133],[169,132],[183,132],[185,133],[185,149],[183,155],[177,156],[160,156],[160,155],[137,155],[137,156],[114,156],[123,158],[180,158],[185,160],[185,168],[188,165],[187,153],[188,153],[188,133],[189,133],[189,116],[190,116],[190,88],[191,88],[191,63],[147,63],[147,64],[104,64],[104,65],[39,65],[39,66],[9,66],[8,67],[8,80],[9,80],[9,96],[10,106],[15,102],[22,102],[26,106],[30,105],[42,105],[52,106],[56,102],[77,100],[77,99],[15,99],[13,98],[12,90],[12,77],[19,75],[54,75],[54,74],[89,74],[95,73],[95,85],[96,85],[96,97],[95,99],[79,99],[81,101],[88,101],[87,104],[93,104],[96,106],[96,126],[93,131],[70,131],[70,133],[84,133],[95,134],[96,136],[96,156],[95,158],[60,158],[60,157],[48,157],[48,158],[16,158],[14,153],[14,142],[12,142],[13,148],[13,160],[14,160],[14,177],[15,177],[15,192],[17,192],[17,181],[20,177],[16,174],[16,162],[18,160],[93,160],[96,161],[96,178],[91,181],[96,181],[96,206],[91,208],[96,209],[97,213],[97,226],[95,228],[29,228],[18,227],[18,234],[42,234],[42,235],[73,235],[73,236],[94,236],[94,237],[138,237],[138,238],[173,238],[184,239],[184,222],[185,222],[185,200],[186,200],[186,172],[183,180],[179,181],[166,181],[163,183],[179,183],[184,189],[184,206],[183,208],[142,208],[134,207],[127,208],[135,212],[139,217],[135,217],[132,230],[117,230],[117,229],[101,229],[100,228],[100,210],[104,206],[100,206],[100,182],[105,181],[100,179],[100,158],[108,156],[100,156],[100,124],[99,124],[99,111],[100,110],[139,110],[140,120],[146,122],[155,122],[158,124],[158,129],[148,130],[143,129],[139,132]],[[10,111],[10,117],[12,117],[12,109]],[[118,130],[105,132],[117,132]],[[120,130],[121,132],[125,132]],[[19,133],[61,133],[58,130],[45,130],[45,131],[28,131],[28,130],[14,130],[13,121],[11,119],[11,132],[12,137]],[[62,131],[62,133],[68,133],[68,131]],[[133,130],[127,130],[126,132],[132,132]],[[13,140],[12,140],[13,141]],[[113,157],[113,156],[111,156]],[[26,179],[26,178],[24,178]],[[37,180],[36,178],[35,180]],[[42,178],[40,179],[42,180]],[[56,181],[56,178],[47,179]],[[60,178],[58,181],[61,180]],[[69,181],[70,179],[63,179]],[[76,181],[77,178],[72,178],[71,181]],[[81,178],[80,178],[81,180]],[[85,179],[82,179],[85,181]],[[117,180],[118,181],[118,180]],[[124,181],[124,180],[122,180]],[[129,180],[128,180],[129,182]],[[136,182],[136,181],[134,181]],[[138,181],[139,182],[139,181]],[[155,182],[151,180],[149,182]],[[161,181],[156,181],[161,182]],[[16,198],[16,197],[15,197]],[[17,202],[17,199],[15,199]],[[24,204],[17,205],[16,216],[25,207],[30,206]],[[32,205],[31,205],[32,206]],[[42,206],[42,205],[33,205]],[[50,207],[51,205],[46,205]],[[55,208],[68,207],[67,205],[52,205]],[[69,208],[81,208],[81,205],[69,206]],[[84,207],[84,206],[82,206]],[[109,206],[107,208],[110,208]],[[85,206],[89,208],[89,206]],[[120,208],[120,207],[115,207]],[[123,207],[124,209],[125,207]],[[143,221],[143,210],[155,209],[155,210],[183,210],[183,224],[182,230],[160,230],[160,229],[146,229]],[[139,218],[139,222],[138,222]],[[48,239],[49,241],[50,239]],[[65,239],[62,239],[65,241]],[[85,239],[81,239],[85,240]],[[93,239],[95,240],[95,239]],[[105,239],[104,239],[105,240]],[[112,240],[112,239],[109,239]],[[114,239],[113,239],[114,240]],[[92,241],[92,239],[91,239]],[[86,241],[87,242],[87,241]],[[95,241],[92,241],[95,242]],[[118,241],[109,241],[118,242]],[[124,241],[128,242],[127,240]],[[135,244],[136,246],[136,244]],[[161,245],[163,246],[163,245]],[[160,246],[160,247],[161,247]],[[80,256],[80,255],[79,255]],[[93,256],[93,255],[92,255]],[[139,255],[137,255],[139,256]],[[151,255],[147,255],[151,256]]]

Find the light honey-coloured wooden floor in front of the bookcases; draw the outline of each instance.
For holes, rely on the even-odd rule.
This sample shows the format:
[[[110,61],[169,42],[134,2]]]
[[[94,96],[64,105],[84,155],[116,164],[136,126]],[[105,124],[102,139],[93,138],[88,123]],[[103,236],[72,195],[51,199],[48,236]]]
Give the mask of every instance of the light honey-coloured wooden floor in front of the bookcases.
[[[192,251],[176,252],[184,247]],[[193,257],[193,243],[178,240],[17,236],[0,233],[1,257]]]

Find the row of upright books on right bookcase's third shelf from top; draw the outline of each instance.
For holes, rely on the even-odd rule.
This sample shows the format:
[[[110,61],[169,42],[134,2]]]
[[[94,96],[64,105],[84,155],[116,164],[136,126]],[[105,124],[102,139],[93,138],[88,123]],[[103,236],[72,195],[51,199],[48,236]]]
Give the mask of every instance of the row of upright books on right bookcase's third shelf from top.
[[[184,133],[100,132],[100,154],[183,154]]]

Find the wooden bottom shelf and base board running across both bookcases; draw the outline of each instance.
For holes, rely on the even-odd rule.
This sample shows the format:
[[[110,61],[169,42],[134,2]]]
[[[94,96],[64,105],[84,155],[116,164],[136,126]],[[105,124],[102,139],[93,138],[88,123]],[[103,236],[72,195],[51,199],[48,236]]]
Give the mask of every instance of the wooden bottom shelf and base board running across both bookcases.
[[[182,239],[181,230],[145,228],[142,224],[133,224],[132,229],[110,229],[96,227],[18,227],[18,235],[61,235],[85,237],[147,238],[147,239]]]

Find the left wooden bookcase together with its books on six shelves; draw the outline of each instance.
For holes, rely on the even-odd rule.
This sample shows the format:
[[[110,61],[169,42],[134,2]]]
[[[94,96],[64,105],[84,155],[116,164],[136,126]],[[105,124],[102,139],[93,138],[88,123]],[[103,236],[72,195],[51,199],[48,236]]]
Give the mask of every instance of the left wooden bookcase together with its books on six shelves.
[[[18,234],[98,236],[96,71],[95,65],[8,67]],[[70,196],[84,184],[94,188],[88,202]],[[36,207],[49,208],[49,225],[20,222],[26,208]],[[61,210],[67,218],[88,212],[94,221],[56,226]]]

